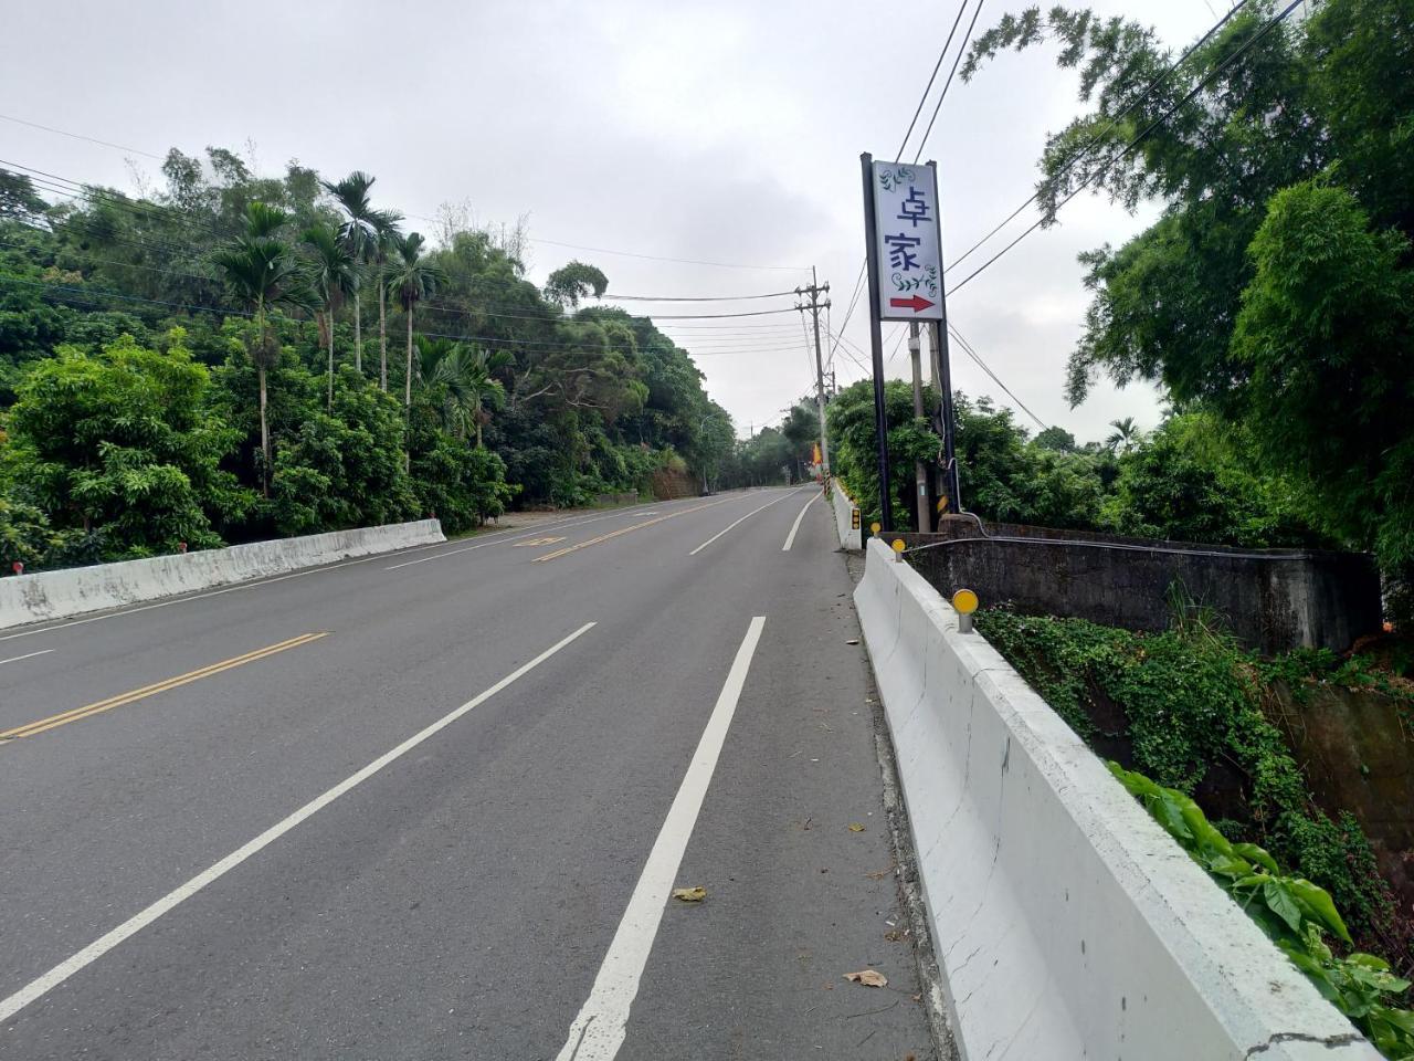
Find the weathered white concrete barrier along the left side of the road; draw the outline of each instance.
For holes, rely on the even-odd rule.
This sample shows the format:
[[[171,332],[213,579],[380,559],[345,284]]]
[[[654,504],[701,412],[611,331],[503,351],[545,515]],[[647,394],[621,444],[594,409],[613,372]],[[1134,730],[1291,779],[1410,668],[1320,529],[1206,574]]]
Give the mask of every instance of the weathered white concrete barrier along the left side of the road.
[[[421,519],[10,576],[0,579],[0,630],[445,540],[438,521]]]

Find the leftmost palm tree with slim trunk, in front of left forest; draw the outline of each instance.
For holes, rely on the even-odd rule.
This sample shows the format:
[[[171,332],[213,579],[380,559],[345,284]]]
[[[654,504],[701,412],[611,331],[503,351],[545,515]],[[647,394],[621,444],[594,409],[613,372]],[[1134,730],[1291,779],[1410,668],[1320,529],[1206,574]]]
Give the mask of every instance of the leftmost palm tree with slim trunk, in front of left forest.
[[[280,359],[280,344],[270,330],[269,310],[287,306],[314,310],[318,300],[294,248],[276,233],[291,215],[264,202],[246,205],[246,231],[212,255],[230,294],[255,317],[255,337],[246,349],[260,379],[260,487],[270,494],[270,426],[266,416],[266,372]]]

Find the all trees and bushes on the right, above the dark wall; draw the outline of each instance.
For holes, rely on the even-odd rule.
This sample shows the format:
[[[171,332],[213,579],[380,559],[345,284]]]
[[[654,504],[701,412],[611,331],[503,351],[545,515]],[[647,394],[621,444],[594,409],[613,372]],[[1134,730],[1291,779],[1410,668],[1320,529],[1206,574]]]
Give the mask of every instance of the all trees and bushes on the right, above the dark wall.
[[[1056,528],[1372,550],[1408,624],[1414,4],[1321,0],[1270,25],[1284,7],[1241,6],[1174,74],[1181,51],[1151,28],[1083,8],[1008,14],[973,44],[967,78],[1010,50],[1080,75],[1085,112],[1039,160],[1044,225],[1079,194],[1158,202],[1140,235],[1082,256],[1092,301],[1056,385],[1077,405],[1102,375],[1145,381],[1168,412],[1148,436],[1120,422],[1075,447],[959,402],[962,501]],[[855,385],[831,407],[834,468],[877,511],[868,402]],[[889,488],[908,512],[913,457],[939,440],[905,383],[888,406]]]

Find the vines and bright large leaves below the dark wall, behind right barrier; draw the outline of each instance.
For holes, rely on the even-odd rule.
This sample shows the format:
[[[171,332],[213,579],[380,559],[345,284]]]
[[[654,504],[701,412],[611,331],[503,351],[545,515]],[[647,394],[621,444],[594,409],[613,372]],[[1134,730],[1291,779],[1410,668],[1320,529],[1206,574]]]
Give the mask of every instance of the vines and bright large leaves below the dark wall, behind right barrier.
[[[1338,685],[1414,723],[1414,682],[1359,654],[1261,659],[1210,615],[1178,617],[1135,634],[991,610],[977,628],[1328,1000],[1387,1057],[1414,1055],[1414,918],[1355,815],[1318,804],[1270,709]]]

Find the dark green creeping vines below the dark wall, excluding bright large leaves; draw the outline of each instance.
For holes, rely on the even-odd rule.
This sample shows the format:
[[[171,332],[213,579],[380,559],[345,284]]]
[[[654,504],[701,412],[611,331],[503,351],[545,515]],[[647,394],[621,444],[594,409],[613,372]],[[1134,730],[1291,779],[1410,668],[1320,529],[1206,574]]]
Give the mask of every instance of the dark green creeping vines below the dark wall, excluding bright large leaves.
[[[1121,758],[1158,784],[1192,794],[1215,765],[1234,768],[1241,806],[1233,813],[1247,837],[1329,890],[1362,938],[1396,938],[1389,886],[1359,823],[1349,815],[1332,821],[1315,806],[1261,709],[1270,676],[1290,666],[1260,663],[1230,637],[1193,621],[1134,634],[990,610],[978,614],[977,628],[1080,737],[1127,743]],[[1109,717],[1106,705],[1123,713],[1116,733],[1096,724]],[[1403,956],[1410,959],[1414,953]]]

